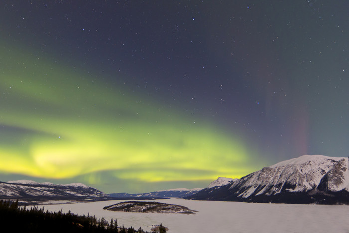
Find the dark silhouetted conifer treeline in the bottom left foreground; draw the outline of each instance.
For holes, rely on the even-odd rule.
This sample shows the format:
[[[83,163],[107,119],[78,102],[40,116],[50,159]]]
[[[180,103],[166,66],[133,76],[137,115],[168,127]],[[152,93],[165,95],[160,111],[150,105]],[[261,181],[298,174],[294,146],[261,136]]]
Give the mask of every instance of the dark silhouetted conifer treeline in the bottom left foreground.
[[[49,212],[38,207],[19,207],[16,202],[0,201],[0,223],[6,225],[12,232],[25,233],[149,233],[141,227],[118,227],[117,220],[109,222],[97,219],[95,216],[77,215],[62,211]],[[157,231],[158,232],[158,231]],[[160,233],[166,232],[161,225]],[[156,232],[151,232],[156,233]]]

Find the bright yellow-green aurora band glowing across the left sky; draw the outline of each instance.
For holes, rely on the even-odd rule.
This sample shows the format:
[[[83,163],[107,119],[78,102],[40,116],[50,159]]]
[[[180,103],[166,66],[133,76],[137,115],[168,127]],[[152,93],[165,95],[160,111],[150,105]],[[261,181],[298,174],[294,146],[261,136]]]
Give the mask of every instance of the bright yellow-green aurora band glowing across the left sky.
[[[28,51],[2,44],[0,54],[2,174],[149,183],[255,170],[241,140],[212,123]]]

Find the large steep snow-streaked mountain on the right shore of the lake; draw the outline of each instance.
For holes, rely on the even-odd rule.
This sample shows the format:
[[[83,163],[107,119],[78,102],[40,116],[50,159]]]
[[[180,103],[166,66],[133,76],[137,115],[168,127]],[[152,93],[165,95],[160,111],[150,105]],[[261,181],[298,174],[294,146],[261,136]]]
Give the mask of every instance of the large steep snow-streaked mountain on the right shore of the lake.
[[[263,168],[241,179],[218,178],[207,188],[186,198],[349,204],[348,168],[349,158],[303,155]]]

